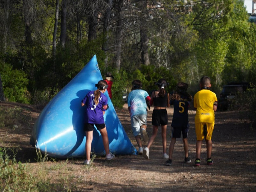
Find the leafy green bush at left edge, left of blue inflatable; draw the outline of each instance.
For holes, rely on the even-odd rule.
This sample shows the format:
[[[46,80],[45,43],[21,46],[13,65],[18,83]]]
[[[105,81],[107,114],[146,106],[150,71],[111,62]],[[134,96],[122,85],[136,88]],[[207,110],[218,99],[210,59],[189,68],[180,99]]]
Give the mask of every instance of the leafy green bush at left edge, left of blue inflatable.
[[[0,63],[3,92],[9,102],[29,103],[30,95],[27,90],[29,80],[21,70],[13,70],[12,65]]]

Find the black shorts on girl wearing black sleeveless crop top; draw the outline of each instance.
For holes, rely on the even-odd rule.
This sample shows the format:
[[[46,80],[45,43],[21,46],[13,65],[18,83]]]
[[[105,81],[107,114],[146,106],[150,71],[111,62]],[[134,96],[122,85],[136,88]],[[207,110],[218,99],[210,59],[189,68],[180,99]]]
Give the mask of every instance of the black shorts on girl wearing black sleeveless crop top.
[[[155,109],[152,113],[152,125],[160,126],[168,124],[168,116],[166,109]]]

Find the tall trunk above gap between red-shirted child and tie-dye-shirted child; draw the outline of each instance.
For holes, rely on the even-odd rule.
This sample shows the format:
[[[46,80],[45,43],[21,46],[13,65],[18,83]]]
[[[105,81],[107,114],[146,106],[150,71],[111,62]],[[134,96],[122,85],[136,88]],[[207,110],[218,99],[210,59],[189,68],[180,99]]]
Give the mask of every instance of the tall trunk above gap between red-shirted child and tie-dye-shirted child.
[[[117,21],[117,26],[116,26],[116,69],[117,71],[120,70],[121,66],[121,50],[122,50],[122,38],[123,38],[123,6],[124,2],[123,0],[119,0],[119,3],[117,5],[117,11],[118,11],[118,21]]]

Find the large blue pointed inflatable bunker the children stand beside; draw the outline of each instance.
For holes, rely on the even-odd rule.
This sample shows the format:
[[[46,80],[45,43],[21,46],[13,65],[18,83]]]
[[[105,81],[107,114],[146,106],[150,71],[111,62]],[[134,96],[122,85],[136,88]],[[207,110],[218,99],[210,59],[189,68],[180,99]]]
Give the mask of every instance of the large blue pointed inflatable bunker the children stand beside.
[[[96,55],[87,65],[45,106],[32,130],[30,144],[47,153],[49,157],[85,157],[85,133],[83,118],[85,107],[81,100],[95,84],[102,80]],[[118,119],[108,92],[108,110],[104,119],[108,131],[109,148],[113,154],[137,154]],[[92,152],[105,155],[102,137],[93,130]]]

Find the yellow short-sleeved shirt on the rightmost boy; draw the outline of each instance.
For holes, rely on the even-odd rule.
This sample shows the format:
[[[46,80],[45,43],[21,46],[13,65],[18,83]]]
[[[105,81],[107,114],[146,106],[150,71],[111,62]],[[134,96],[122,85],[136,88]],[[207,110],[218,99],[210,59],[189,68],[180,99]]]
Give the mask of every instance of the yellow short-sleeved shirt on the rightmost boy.
[[[217,101],[217,96],[210,90],[202,89],[195,93],[194,108],[196,108],[195,123],[214,123],[215,114],[213,104]]]

